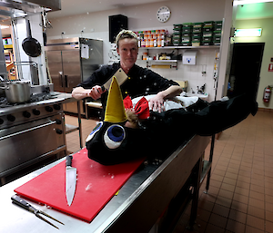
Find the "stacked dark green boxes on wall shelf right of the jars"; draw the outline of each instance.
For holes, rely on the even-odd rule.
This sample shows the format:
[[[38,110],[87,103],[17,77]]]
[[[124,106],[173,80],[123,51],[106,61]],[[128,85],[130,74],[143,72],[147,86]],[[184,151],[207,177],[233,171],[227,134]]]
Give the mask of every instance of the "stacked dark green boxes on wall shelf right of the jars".
[[[221,44],[222,21],[174,24],[173,44],[182,46]]]

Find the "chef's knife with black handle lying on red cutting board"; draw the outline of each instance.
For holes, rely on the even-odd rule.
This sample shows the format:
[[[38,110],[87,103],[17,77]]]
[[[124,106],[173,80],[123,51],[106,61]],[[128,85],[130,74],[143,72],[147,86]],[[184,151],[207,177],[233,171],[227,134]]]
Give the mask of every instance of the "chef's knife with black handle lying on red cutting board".
[[[66,200],[71,206],[76,191],[76,168],[72,167],[72,155],[66,156]]]

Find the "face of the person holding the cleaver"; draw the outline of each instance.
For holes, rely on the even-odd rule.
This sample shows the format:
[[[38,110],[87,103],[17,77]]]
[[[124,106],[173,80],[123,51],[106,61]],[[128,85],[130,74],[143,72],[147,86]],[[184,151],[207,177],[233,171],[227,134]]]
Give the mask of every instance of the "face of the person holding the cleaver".
[[[116,51],[120,55],[121,66],[126,69],[131,69],[136,63],[138,53],[136,39],[126,38],[120,40]]]

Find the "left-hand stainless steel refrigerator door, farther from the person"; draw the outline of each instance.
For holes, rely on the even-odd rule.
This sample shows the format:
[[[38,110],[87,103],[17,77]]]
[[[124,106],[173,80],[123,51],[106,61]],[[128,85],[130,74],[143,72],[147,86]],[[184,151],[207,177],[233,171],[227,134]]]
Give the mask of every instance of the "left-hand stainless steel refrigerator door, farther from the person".
[[[54,83],[54,91],[65,92],[61,51],[47,51],[46,56],[48,70],[52,79],[52,83]]]

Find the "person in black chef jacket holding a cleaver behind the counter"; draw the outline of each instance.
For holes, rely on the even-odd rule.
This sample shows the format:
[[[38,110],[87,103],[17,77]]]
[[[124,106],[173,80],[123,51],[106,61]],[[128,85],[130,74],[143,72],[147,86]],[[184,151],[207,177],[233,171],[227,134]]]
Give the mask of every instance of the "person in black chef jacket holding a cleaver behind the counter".
[[[103,65],[86,82],[78,84],[72,92],[74,98],[91,97],[94,100],[102,98],[102,103],[105,106],[106,90],[103,90],[102,85],[119,68],[122,68],[128,76],[126,82],[120,86],[123,98],[126,98],[126,95],[136,98],[141,95],[156,94],[149,100],[149,105],[154,111],[161,112],[164,100],[175,97],[182,92],[182,88],[177,83],[136,65],[137,36],[132,31],[122,30],[117,34],[116,52],[120,55],[120,63]]]

